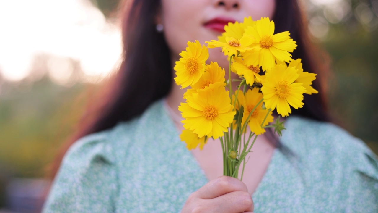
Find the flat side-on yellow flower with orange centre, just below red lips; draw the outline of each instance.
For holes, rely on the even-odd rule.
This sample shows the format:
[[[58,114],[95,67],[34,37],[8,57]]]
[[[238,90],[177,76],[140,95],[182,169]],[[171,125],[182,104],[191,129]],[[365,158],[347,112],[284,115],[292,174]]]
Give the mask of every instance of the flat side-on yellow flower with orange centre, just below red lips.
[[[225,55],[237,56],[238,51],[243,53],[247,50],[252,50],[251,45],[255,42],[255,39],[249,35],[245,35],[241,39],[226,37],[225,40],[225,42],[211,40],[206,41],[206,43],[208,43],[209,48],[222,47],[222,52],[224,52]]]

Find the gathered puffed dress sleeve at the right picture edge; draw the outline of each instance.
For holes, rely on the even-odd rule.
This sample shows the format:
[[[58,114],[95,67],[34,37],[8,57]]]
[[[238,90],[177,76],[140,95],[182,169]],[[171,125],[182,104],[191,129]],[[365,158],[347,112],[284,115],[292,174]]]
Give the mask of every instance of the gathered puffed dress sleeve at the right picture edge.
[[[357,155],[350,158],[354,165],[353,176],[348,188],[346,212],[378,212],[378,160],[377,156],[365,146],[358,143],[353,147]]]

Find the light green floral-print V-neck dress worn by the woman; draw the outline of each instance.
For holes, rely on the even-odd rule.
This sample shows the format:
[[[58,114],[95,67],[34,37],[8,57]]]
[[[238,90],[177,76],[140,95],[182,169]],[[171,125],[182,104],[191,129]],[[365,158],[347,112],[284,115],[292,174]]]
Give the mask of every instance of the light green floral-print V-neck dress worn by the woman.
[[[336,125],[291,116],[252,195],[256,213],[378,212],[378,161]],[[77,141],[54,180],[48,212],[180,212],[208,182],[163,101]],[[248,178],[248,177],[244,177]]]

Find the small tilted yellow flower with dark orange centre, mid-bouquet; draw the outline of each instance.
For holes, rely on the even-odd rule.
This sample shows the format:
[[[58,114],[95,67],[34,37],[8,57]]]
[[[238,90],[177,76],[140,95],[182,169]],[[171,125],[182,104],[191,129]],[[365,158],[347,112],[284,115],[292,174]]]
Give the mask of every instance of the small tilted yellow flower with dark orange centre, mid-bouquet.
[[[247,64],[245,60],[242,60],[239,57],[234,57],[231,70],[239,76],[243,76],[246,83],[251,86],[255,82],[255,78],[257,82],[261,81],[261,76],[259,75],[260,67],[258,65],[253,66],[252,64]]]

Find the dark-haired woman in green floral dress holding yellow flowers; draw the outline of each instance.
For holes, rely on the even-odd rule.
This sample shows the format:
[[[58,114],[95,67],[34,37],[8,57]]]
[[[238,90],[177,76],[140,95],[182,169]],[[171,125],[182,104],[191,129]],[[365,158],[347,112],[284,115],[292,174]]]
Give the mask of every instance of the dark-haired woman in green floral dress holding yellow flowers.
[[[125,60],[101,113],[65,154],[44,212],[378,211],[376,157],[328,123],[326,69],[296,0],[135,0],[126,8]],[[318,74],[319,94],[305,96],[280,141],[258,138],[241,182],[219,177],[219,142],[201,152],[180,142],[184,90],[174,84],[172,65],[187,41],[216,39],[219,25],[246,16],[271,17],[275,32],[290,31],[298,45],[293,58]],[[223,53],[209,51],[209,61],[228,66]]]

